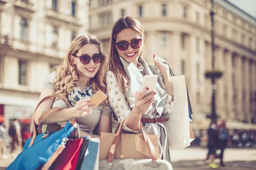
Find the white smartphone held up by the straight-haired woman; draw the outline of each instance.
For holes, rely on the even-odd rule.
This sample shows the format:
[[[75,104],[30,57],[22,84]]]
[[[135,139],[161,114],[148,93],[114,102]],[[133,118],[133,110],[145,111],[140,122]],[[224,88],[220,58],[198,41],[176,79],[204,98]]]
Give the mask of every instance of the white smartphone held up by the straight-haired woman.
[[[142,97],[147,96],[149,93],[156,91],[156,81],[157,81],[158,76],[157,75],[146,75],[143,77],[143,88],[148,87],[148,91],[145,92]]]

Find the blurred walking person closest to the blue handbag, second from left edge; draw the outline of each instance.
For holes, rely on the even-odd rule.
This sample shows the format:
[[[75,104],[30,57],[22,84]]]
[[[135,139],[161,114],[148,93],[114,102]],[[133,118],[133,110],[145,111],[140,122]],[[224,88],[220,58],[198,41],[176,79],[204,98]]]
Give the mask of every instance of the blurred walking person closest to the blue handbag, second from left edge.
[[[12,125],[10,125],[9,127],[9,136],[11,137],[11,145],[12,145],[12,149],[11,149],[11,155],[13,158],[16,157],[15,155],[15,150],[17,148],[17,146],[19,146],[19,144],[22,142],[21,139],[21,134],[20,134],[20,123],[18,120],[14,119]]]

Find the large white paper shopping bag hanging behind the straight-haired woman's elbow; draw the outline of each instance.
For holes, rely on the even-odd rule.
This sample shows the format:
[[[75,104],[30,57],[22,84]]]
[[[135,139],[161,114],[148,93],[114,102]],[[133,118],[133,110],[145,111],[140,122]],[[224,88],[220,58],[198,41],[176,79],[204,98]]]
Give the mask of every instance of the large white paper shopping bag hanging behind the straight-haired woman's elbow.
[[[188,147],[195,138],[188,116],[186,77],[184,75],[171,76],[170,79],[172,94],[177,97],[178,101],[173,105],[169,121],[162,123],[167,131],[169,148],[183,149]]]

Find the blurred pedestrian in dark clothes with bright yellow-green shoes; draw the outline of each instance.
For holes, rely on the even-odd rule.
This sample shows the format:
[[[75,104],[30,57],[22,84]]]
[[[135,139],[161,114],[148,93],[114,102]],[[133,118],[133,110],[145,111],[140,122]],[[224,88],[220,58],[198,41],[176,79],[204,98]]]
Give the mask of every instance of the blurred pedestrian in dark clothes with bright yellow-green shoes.
[[[219,165],[214,163],[215,152],[219,147],[219,132],[217,120],[213,120],[208,129],[208,149],[209,149],[209,168],[219,168]]]

